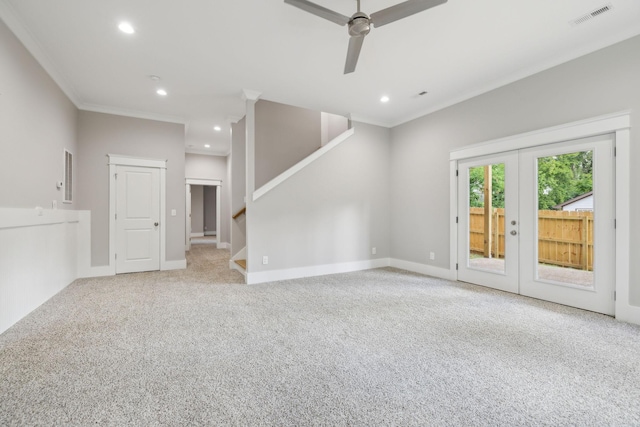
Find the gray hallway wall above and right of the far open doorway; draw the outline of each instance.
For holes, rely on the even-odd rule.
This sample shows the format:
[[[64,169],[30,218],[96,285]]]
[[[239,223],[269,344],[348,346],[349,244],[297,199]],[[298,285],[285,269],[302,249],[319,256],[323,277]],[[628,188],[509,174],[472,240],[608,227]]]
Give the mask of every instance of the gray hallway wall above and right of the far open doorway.
[[[215,230],[214,225],[207,229],[215,230],[219,242],[231,242],[231,180],[228,163],[230,156],[206,156],[202,154],[185,155],[185,177],[191,179],[213,179],[222,181],[220,193],[220,230]],[[210,191],[205,187],[205,191]],[[215,203],[215,202],[214,202]],[[214,206],[215,207],[215,206]]]

